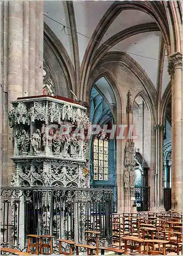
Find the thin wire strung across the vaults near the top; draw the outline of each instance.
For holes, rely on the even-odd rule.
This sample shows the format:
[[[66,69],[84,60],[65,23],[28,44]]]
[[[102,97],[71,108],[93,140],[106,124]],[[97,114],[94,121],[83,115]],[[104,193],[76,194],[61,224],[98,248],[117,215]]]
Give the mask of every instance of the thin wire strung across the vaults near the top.
[[[140,54],[137,54],[137,53],[132,53],[132,52],[124,51],[124,50],[122,50],[122,49],[120,49],[120,48],[107,45],[107,44],[105,44],[104,42],[100,42],[100,41],[98,41],[98,40],[96,40],[96,39],[93,39],[93,38],[91,38],[91,37],[89,37],[89,36],[87,36],[87,35],[84,35],[84,34],[78,32],[78,31],[76,31],[76,30],[74,30],[74,29],[71,29],[71,28],[67,27],[66,25],[64,25],[64,24],[62,24],[62,23],[60,23],[60,22],[58,22],[58,20],[56,20],[56,19],[54,19],[54,18],[51,18],[51,17],[47,16],[47,15],[44,14],[44,13],[43,13],[43,15],[44,15],[45,17],[47,17],[47,18],[53,20],[54,22],[56,22],[56,23],[62,25],[63,28],[64,28],[64,32],[65,32],[65,28],[67,28],[67,29],[70,29],[71,31],[73,31],[73,32],[75,32],[75,33],[77,33],[77,34],[79,34],[79,35],[82,35],[82,36],[84,36],[84,37],[86,37],[86,38],[88,38],[88,39],[91,39],[91,40],[95,41],[95,42],[99,42],[99,44],[102,44],[102,45],[104,45],[104,46],[110,47],[111,49],[118,50],[118,51],[120,51],[120,52],[132,54],[132,55],[139,56],[139,57],[143,57],[143,58],[147,58],[147,59],[154,59],[154,60],[160,60],[160,61],[168,61],[168,60],[166,60],[166,59],[159,59],[159,58],[153,58],[153,57],[143,56],[143,55],[140,55]],[[68,35],[66,32],[65,32],[65,34]]]

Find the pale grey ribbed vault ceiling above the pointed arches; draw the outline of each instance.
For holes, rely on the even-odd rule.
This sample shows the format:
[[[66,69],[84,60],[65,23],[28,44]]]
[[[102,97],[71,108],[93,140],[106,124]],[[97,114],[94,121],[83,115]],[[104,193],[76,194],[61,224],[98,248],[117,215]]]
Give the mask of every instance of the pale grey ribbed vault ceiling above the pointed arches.
[[[68,9],[68,4],[65,1],[44,1],[44,13],[48,13],[47,15],[50,18],[53,18],[68,27],[73,28],[73,24],[75,24],[77,32],[88,37],[92,37],[94,31],[97,30],[97,26],[99,27],[101,25],[101,18],[105,17],[105,15],[107,16],[107,10],[113,3],[114,2],[112,1],[74,1],[72,4],[73,9],[71,11]],[[44,17],[44,22],[51,30],[53,30],[62,42],[68,56],[70,57],[73,67],[76,67],[76,65],[79,64],[81,68],[86,50],[88,52],[87,47],[90,39],[77,34],[73,40],[69,29],[63,28],[63,26],[48,17]],[[143,29],[144,26],[146,27],[145,30]],[[135,31],[135,34],[129,32],[126,36],[127,38],[123,39],[120,37],[122,39],[119,39],[119,42],[116,41],[116,38],[118,38],[121,31],[130,31],[132,29]],[[123,34],[124,33],[122,32],[121,35],[123,36]],[[164,45],[163,36],[159,31],[158,26],[155,24],[155,20],[150,15],[145,12],[132,9],[119,11],[119,14],[113,18],[113,22],[108,24],[104,35],[99,37],[100,44],[96,44],[94,53],[96,53],[97,49],[101,47],[101,42],[109,43],[111,38],[113,38],[114,47],[130,52],[129,55],[144,69],[155,89],[159,91],[161,96],[163,96],[170,78],[167,72],[167,62],[165,61],[163,68],[161,68],[161,61],[158,59],[163,56],[163,58],[167,60],[167,51],[166,45]],[[77,59],[76,57],[74,58],[74,51],[76,48],[73,45],[73,41],[74,44],[77,44],[76,39],[78,41],[77,49],[79,49],[79,52],[75,54]],[[163,45],[164,47],[162,47]],[[107,51],[119,50],[111,48],[107,49]],[[131,53],[156,59],[144,58]],[[162,80],[160,77],[162,77]]]

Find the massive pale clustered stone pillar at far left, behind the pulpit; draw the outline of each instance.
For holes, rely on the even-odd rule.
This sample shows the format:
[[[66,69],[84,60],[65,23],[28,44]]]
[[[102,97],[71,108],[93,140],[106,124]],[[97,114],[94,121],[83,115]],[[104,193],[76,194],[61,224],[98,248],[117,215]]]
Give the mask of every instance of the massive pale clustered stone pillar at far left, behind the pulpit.
[[[10,185],[13,172],[12,128],[8,124],[11,101],[17,97],[42,94],[43,2],[2,3],[3,34],[3,177]]]

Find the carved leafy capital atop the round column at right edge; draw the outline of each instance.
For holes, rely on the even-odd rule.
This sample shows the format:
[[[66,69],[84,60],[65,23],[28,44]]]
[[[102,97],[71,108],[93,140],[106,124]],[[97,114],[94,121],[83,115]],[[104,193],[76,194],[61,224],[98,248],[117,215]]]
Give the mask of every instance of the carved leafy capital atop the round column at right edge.
[[[176,68],[182,68],[182,53],[175,52],[168,56],[168,74],[172,76]]]

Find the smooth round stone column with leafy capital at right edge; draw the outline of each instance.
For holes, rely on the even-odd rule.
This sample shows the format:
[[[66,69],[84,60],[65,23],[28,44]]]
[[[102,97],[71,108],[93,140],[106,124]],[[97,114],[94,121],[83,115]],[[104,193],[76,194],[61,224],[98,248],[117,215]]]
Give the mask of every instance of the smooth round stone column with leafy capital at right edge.
[[[172,209],[182,210],[182,54],[169,56],[172,92]]]

